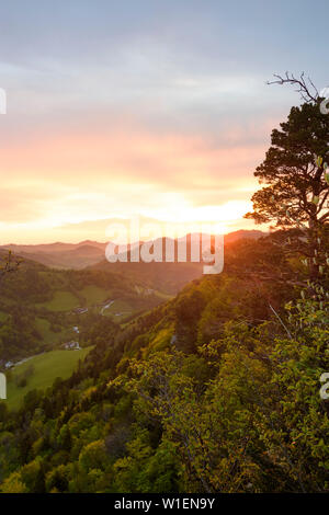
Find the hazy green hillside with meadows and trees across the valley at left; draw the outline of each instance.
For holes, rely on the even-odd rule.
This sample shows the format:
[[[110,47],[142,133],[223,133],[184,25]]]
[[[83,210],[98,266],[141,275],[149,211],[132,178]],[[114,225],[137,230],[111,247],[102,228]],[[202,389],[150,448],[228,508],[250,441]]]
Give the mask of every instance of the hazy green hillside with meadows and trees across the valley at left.
[[[161,293],[148,291],[137,278],[133,283],[109,272],[54,270],[23,259],[1,282],[0,367],[77,340],[75,327],[88,345],[84,328],[107,316],[120,323],[161,301]]]

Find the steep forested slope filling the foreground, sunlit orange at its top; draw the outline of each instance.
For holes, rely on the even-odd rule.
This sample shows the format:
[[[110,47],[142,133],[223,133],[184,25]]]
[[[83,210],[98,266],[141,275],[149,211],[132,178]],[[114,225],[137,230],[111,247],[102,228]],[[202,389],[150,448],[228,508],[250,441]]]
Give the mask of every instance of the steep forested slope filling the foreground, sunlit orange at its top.
[[[307,283],[281,233],[227,250],[125,329],[90,327],[68,380],[0,404],[3,492],[328,490],[328,272]]]

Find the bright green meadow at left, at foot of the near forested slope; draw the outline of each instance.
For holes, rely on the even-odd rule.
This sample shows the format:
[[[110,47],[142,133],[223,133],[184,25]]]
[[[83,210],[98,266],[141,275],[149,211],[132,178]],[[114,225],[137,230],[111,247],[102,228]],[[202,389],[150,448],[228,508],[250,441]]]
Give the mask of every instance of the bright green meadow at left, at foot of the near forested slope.
[[[52,351],[32,357],[25,363],[12,369],[12,379],[8,382],[5,403],[10,410],[20,407],[24,396],[31,390],[44,390],[53,385],[57,377],[66,379],[76,369],[79,359],[83,359],[91,347],[81,351]],[[15,377],[21,376],[26,369],[33,367],[33,373],[24,388],[15,385]]]

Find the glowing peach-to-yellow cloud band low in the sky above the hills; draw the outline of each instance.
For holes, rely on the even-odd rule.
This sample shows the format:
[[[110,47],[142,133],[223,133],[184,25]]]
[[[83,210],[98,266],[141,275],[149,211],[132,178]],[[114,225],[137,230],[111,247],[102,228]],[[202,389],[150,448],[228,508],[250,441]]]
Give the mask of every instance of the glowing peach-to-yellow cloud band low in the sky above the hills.
[[[37,238],[57,228],[58,237],[67,224],[134,213],[191,220],[212,206],[220,216],[228,203],[236,210],[226,222],[236,222],[257,186],[251,172],[263,151],[129,126],[35,134],[2,150],[2,237],[18,238],[22,228]]]

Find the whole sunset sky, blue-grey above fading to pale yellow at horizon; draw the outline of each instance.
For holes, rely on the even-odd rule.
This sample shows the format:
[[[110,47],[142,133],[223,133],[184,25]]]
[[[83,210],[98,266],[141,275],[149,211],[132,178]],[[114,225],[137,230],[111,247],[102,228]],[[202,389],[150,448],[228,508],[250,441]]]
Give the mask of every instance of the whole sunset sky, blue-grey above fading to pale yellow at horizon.
[[[105,241],[133,215],[257,228],[252,172],[299,102],[265,81],[329,84],[328,14],[327,0],[1,1],[0,243]]]

